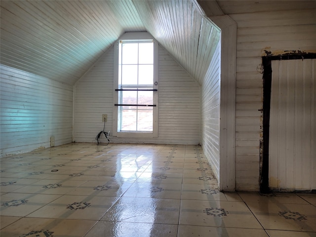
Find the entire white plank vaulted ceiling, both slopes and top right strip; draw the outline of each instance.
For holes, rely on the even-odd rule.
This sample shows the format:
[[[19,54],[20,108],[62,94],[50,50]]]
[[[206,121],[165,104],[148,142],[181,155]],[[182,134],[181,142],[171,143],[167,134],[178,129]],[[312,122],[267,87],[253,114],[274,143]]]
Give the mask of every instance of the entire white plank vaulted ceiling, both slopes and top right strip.
[[[315,1],[198,1],[207,16]],[[283,2],[283,3],[282,3]],[[197,81],[219,28],[196,0],[1,0],[1,64],[74,84],[124,32],[148,31]]]

